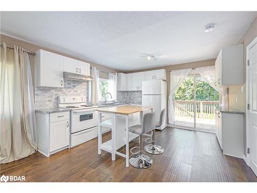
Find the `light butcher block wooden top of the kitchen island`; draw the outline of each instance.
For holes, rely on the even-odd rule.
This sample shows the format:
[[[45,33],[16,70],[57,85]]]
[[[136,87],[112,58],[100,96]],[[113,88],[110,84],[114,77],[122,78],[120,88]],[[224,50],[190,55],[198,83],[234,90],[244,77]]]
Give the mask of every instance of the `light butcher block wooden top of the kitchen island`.
[[[118,107],[99,108],[97,111],[129,115],[129,114],[133,114],[133,113],[137,113],[137,112],[141,112],[149,109],[153,109],[153,107],[125,105],[125,106],[118,106]]]

